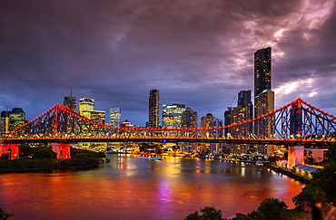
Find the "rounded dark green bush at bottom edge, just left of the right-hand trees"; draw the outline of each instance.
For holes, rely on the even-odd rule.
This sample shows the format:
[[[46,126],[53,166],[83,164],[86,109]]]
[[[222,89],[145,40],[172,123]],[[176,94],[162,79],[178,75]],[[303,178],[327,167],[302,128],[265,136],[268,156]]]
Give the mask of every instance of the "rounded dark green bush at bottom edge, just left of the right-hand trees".
[[[265,219],[275,220],[281,219],[282,209],[287,209],[287,207],[279,198],[265,198],[258,207],[258,211],[266,216]]]

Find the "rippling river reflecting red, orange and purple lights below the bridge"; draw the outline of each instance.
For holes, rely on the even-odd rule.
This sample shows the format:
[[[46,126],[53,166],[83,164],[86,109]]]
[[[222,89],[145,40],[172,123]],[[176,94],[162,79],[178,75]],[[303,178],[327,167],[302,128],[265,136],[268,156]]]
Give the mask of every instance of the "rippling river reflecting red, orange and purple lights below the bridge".
[[[0,174],[0,207],[15,219],[183,219],[204,206],[223,217],[267,197],[290,208],[304,187],[267,167],[201,158],[108,155],[90,170]]]

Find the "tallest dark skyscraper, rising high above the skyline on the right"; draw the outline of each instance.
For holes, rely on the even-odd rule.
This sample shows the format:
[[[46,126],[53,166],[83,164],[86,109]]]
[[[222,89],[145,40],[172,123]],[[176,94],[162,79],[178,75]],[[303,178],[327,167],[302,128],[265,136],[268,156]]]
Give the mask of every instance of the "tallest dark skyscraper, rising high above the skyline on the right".
[[[271,47],[254,53],[254,97],[271,90]]]

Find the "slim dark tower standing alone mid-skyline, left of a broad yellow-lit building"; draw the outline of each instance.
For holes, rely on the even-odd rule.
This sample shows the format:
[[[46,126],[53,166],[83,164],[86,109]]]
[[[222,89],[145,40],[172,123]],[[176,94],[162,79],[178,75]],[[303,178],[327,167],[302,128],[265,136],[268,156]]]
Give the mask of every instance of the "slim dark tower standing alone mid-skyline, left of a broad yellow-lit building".
[[[158,90],[151,90],[149,92],[148,125],[150,128],[158,128],[160,125],[160,101]]]

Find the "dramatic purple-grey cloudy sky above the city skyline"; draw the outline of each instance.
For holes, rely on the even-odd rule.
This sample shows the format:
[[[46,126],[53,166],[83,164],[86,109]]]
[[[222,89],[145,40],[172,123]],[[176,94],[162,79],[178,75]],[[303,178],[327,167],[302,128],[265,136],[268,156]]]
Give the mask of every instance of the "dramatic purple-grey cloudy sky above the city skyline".
[[[269,46],[275,107],[300,97],[335,115],[334,0],[0,0],[0,110],[32,120],[74,84],[139,126],[152,89],[222,119]]]

